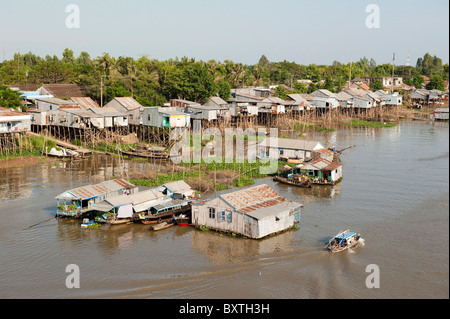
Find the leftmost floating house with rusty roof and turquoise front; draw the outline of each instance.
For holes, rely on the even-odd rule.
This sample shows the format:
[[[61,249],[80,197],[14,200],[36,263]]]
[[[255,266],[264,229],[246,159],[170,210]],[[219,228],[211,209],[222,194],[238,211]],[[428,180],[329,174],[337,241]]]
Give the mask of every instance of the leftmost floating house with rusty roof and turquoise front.
[[[135,185],[120,178],[70,189],[56,196],[56,216],[80,217],[107,198],[136,191]]]

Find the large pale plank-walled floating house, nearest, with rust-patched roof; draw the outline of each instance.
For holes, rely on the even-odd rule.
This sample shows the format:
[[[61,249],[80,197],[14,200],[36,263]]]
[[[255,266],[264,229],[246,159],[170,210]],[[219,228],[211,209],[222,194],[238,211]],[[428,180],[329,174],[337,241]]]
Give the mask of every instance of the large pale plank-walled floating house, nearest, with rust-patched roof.
[[[263,184],[192,202],[192,224],[260,239],[291,228],[302,207]]]

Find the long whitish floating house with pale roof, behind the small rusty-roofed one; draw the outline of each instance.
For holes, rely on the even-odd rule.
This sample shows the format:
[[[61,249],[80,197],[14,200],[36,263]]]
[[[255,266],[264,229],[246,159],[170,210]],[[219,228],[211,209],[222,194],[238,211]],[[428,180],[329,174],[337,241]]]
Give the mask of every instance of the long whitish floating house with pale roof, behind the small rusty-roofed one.
[[[276,145],[276,146],[275,146]],[[261,158],[269,156],[284,160],[304,161],[312,158],[312,152],[323,149],[322,144],[316,141],[287,139],[287,138],[266,138],[258,146],[258,155]],[[270,154],[270,150],[274,155]]]

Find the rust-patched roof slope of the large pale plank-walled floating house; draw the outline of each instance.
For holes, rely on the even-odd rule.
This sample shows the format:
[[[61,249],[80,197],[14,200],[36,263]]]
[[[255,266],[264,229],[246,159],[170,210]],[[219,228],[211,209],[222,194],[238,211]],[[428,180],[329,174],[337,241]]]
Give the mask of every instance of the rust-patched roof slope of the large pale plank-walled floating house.
[[[275,206],[287,200],[266,184],[220,195],[220,197],[243,213]]]

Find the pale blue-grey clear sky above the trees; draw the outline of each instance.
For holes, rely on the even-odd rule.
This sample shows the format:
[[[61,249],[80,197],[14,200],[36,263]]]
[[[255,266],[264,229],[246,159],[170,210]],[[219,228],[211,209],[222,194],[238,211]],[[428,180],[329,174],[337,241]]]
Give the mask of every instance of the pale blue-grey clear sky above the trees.
[[[75,21],[74,11],[66,12],[71,4],[79,8],[79,27],[68,27]],[[379,15],[367,9],[371,4]],[[362,57],[391,63],[394,52],[396,65],[406,65],[408,55],[415,65],[429,52],[448,63],[449,2],[0,0],[0,61],[15,52],[61,57],[65,48],[91,58],[106,52],[255,64],[264,54],[306,65]]]

